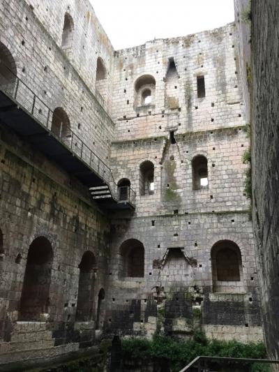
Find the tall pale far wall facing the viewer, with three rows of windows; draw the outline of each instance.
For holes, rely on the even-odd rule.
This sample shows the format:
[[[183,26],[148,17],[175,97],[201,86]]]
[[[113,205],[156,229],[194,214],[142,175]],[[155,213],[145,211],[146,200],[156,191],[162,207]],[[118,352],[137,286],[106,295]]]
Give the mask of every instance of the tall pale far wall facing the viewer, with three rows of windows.
[[[235,37],[234,24],[228,24],[116,52],[111,166],[116,181],[130,180],[137,198],[130,221],[128,214],[125,219],[114,214],[112,220],[107,309],[112,330],[149,337],[164,329],[188,337],[202,324],[209,337],[224,339],[227,329],[221,325],[227,325],[231,338],[262,339],[242,161],[249,138]],[[168,72],[173,62],[177,77]],[[156,81],[149,105],[137,92],[142,81],[150,89],[153,80],[146,75]],[[197,97],[199,75],[204,98]],[[209,185],[193,190],[192,162],[198,155],[207,159]],[[154,165],[154,191],[147,195],[141,195],[144,161]],[[144,246],[141,278],[123,277],[122,247],[129,239]],[[243,277],[229,287],[218,287],[213,279],[211,248],[223,240],[234,241],[242,258]]]

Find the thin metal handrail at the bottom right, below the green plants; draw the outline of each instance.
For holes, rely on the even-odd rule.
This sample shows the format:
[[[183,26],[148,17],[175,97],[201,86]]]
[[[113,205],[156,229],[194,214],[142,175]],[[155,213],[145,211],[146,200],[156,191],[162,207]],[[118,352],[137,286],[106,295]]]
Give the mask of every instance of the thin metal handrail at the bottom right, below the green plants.
[[[209,363],[218,363],[219,366],[224,364],[253,364],[253,363],[264,363],[264,364],[279,364],[279,360],[272,359],[247,359],[247,358],[226,358],[226,357],[196,357],[192,362],[187,364],[186,367],[181,369],[180,372],[195,371],[198,372],[209,372]]]

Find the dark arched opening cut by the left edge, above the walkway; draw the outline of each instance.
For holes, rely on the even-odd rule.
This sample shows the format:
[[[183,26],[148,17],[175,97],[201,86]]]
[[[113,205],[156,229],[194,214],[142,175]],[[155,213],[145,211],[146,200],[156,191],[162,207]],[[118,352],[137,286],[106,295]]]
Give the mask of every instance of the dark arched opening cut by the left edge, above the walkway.
[[[15,60],[8,48],[0,43],[0,86],[10,95],[13,95],[16,75]]]

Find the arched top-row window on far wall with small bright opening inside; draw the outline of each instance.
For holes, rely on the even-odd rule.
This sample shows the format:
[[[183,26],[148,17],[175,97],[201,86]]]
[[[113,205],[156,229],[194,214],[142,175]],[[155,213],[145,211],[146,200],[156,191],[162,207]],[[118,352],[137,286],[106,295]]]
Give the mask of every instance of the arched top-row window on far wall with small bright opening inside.
[[[154,104],[156,80],[151,75],[142,75],[135,82],[135,106]]]

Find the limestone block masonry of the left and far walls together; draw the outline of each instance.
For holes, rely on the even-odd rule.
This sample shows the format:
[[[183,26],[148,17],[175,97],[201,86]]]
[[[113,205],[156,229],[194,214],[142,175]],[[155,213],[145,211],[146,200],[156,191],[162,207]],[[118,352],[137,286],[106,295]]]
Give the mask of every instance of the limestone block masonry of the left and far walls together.
[[[113,334],[262,341],[238,38],[115,51],[87,0],[0,2],[0,371]],[[116,207],[92,200],[84,148]]]

